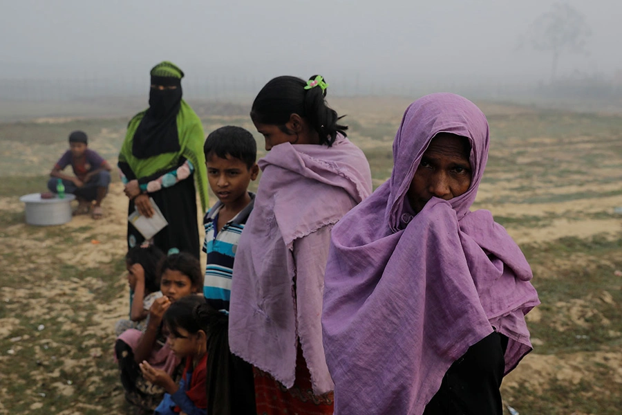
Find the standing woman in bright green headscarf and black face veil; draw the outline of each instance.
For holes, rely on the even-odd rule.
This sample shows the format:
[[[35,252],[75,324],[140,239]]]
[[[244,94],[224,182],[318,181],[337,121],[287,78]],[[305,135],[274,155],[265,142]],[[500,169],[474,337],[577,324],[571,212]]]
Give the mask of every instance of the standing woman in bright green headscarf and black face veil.
[[[152,198],[169,222],[151,242],[164,252],[177,248],[198,258],[195,182],[205,212],[204,136],[200,119],[182,100],[183,76],[182,70],[171,62],[161,62],[151,69],[149,109],[129,122],[119,154],[119,168],[129,198],[129,213],[136,209],[151,217],[154,210],[149,198]],[[128,223],[128,247],[143,241],[142,234]]]

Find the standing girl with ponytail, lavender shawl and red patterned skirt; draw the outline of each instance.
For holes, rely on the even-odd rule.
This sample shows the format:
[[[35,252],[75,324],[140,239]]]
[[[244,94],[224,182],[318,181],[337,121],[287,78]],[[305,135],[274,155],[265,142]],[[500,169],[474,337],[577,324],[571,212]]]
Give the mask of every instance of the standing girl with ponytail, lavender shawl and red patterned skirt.
[[[371,193],[371,174],[326,86],[276,77],[251,111],[270,152],[236,252],[229,345],[255,367],[258,414],[332,414],[320,321],[330,230]]]

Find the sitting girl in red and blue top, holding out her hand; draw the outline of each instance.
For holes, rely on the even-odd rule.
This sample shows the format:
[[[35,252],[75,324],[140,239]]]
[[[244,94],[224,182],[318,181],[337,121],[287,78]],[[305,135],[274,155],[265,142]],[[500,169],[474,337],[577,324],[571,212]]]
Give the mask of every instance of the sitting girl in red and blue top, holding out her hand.
[[[218,314],[198,295],[180,299],[164,313],[167,345],[186,364],[179,385],[166,371],[152,367],[146,360],[140,364],[142,376],[167,391],[155,414],[206,413],[207,337],[211,320]]]

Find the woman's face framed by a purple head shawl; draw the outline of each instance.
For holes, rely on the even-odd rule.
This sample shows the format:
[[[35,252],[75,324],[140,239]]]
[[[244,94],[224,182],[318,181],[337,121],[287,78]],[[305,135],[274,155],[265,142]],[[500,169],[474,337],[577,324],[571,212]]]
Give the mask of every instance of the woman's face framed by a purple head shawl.
[[[421,212],[433,196],[449,201],[471,185],[469,139],[438,133],[430,141],[406,196],[415,213]]]

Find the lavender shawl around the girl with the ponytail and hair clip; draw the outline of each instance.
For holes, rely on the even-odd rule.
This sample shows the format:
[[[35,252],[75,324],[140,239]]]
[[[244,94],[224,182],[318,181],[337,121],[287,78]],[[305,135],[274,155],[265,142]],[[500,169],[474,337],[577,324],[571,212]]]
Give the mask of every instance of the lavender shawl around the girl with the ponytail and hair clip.
[[[234,263],[229,346],[289,388],[300,338],[314,393],[322,394],[333,389],[320,321],[330,241],[328,232],[317,240],[323,257],[314,257],[313,246],[305,258],[294,257],[294,243],[337,223],[371,194],[369,164],[360,149],[338,136],[332,147],[277,145],[259,167],[263,176]],[[297,278],[301,269],[307,277],[320,275]]]

